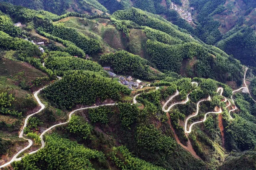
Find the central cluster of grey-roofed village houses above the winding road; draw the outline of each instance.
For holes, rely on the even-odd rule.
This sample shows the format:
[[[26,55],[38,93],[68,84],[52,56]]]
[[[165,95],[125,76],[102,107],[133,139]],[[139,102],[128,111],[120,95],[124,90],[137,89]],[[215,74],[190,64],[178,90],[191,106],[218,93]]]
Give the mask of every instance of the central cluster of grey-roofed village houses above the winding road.
[[[131,76],[127,76],[127,77],[118,76],[115,73],[111,72],[111,67],[103,67],[103,69],[106,70],[109,73],[110,77],[118,78],[119,83],[121,83],[123,85],[126,85],[131,90],[134,90],[133,88],[135,88],[135,89],[140,88],[141,89],[143,87],[142,81],[140,81],[139,79],[134,81],[134,78],[131,77]]]

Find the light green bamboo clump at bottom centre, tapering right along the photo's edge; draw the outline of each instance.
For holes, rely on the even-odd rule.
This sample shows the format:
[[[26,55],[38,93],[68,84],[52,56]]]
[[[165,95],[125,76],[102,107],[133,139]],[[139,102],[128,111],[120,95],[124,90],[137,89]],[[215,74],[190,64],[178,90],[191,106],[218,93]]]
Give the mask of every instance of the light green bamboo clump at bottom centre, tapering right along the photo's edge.
[[[111,152],[111,160],[122,169],[143,169],[143,170],[164,170],[159,166],[153,165],[145,160],[136,158],[129,152],[125,146],[113,147]]]

